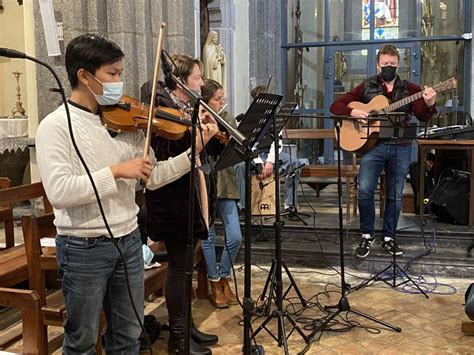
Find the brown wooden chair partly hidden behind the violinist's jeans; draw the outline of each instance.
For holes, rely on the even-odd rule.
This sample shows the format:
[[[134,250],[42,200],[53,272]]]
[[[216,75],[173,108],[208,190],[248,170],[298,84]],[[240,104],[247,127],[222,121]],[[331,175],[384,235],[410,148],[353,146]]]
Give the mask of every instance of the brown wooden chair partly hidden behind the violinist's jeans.
[[[62,290],[48,290],[46,287],[46,272],[56,271],[55,248],[42,248],[41,238],[54,237],[56,228],[53,224],[54,215],[23,216],[21,218],[23,237],[25,239],[26,257],[28,260],[28,275],[30,289],[40,298],[41,321],[36,324],[40,354],[48,353],[48,326],[62,327],[66,319],[66,307]],[[101,334],[104,322],[101,320],[97,337],[97,354],[102,353]]]

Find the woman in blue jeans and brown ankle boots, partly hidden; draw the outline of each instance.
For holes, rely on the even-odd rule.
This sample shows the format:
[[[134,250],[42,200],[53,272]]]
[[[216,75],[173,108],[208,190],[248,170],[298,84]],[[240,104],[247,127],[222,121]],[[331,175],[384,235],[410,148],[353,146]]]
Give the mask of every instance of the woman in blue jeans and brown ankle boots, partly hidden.
[[[203,100],[211,109],[220,112],[224,107],[224,90],[214,80],[204,80],[202,87]],[[227,111],[221,116],[233,127],[237,127],[235,118]],[[211,139],[206,151],[217,159],[222,145]],[[214,149],[213,149],[214,148]],[[237,297],[230,286],[232,264],[239,252],[242,232],[240,230],[237,201],[240,199],[239,186],[234,167],[217,172],[217,210],[225,228],[226,247],[222,251],[219,267],[216,260],[216,230],[214,225],[209,229],[209,239],[202,241],[202,253],[206,261],[207,275],[211,285],[210,301],[217,308],[227,308],[237,304]]]

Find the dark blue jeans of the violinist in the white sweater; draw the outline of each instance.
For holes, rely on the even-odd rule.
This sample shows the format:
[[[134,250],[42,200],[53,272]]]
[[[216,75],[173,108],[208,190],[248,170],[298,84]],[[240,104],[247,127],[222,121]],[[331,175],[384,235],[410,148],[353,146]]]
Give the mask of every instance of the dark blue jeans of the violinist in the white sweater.
[[[141,321],[144,310],[144,267],[140,232],[117,238],[127,262],[133,302]],[[124,264],[106,237],[56,236],[59,276],[63,281],[67,319],[63,354],[95,354],[102,308],[107,318],[107,354],[138,354],[141,328],[128,295]]]

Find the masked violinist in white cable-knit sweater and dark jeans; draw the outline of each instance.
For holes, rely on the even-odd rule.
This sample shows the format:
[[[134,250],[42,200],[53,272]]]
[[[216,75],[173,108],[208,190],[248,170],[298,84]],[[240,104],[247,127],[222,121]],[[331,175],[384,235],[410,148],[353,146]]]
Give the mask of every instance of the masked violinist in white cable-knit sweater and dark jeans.
[[[73,137],[97,186],[111,234],[72,144],[66,107],[62,105],[46,116],[36,135],[40,175],[54,207],[58,232],[57,261],[68,315],[64,354],[94,352],[102,309],[107,319],[106,352],[139,353],[141,327],[124,276],[126,264],[132,301],[143,322],[144,267],[135,185],[142,180],[153,190],[190,170],[189,149],[154,162],[153,154],[143,157],[142,131],[113,135],[102,125],[100,107],[117,104],[123,94],[123,57],[117,44],[97,34],[74,38],[66,50],[72,87],[67,106]],[[197,140],[198,151],[216,131],[216,125],[204,125],[203,141]]]

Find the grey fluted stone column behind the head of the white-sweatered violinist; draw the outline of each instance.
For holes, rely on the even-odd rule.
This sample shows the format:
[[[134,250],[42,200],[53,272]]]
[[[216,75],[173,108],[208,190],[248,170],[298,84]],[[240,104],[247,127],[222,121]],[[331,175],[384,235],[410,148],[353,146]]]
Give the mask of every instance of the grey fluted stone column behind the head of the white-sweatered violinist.
[[[165,48],[170,53],[195,53],[194,5],[189,0],[54,0],[56,21],[63,22],[64,29],[62,55],[57,57],[47,55],[39,6],[34,3],[36,56],[53,66],[67,93],[70,88],[64,67],[66,46],[83,33],[103,33],[121,46],[125,53],[125,92],[137,98],[140,86],[153,77],[158,33],[163,21],[167,24]],[[48,91],[56,84],[47,71],[38,70],[36,79],[41,120],[61,104],[61,98]]]

